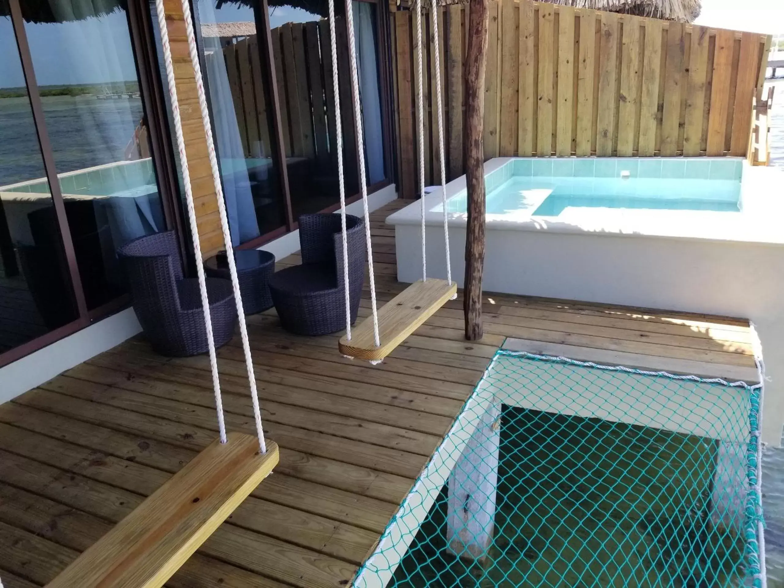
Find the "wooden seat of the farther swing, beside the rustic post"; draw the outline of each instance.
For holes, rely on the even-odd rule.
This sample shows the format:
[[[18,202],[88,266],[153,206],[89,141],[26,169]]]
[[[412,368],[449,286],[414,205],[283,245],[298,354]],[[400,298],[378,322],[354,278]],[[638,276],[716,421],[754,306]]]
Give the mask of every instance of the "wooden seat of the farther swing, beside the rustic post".
[[[379,347],[373,338],[373,318],[368,317],[351,329],[350,341],[346,336],[340,338],[340,353],[371,361],[386,358],[456,293],[454,282],[449,285],[448,281],[436,278],[415,281],[379,308]]]

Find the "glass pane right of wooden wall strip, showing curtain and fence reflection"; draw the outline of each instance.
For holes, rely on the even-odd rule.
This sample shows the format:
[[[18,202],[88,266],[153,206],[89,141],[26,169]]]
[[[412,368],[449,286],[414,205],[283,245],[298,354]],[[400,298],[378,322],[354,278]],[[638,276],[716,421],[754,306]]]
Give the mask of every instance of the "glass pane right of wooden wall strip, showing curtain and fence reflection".
[[[198,17],[223,197],[239,245],[285,225],[256,17],[254,8],[223,0],[199,0]]]

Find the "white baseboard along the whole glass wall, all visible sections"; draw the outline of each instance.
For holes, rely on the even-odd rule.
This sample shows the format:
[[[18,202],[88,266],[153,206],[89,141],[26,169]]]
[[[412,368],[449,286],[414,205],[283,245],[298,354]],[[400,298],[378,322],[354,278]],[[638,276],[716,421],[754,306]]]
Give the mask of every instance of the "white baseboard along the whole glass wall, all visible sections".
[[[368,208],[373,211],[397,198],[397,189],[390,184],[368,195]],[[346,207],[349,214],[362,216],[362,201]],[[273,252],[275,258],[299,251],[299,230],[270,241],[261,249]],[[95,357],[141,332],[132,308],[104,318],[56,343],[0,368],[0,404],[40,386],[58,374]]]

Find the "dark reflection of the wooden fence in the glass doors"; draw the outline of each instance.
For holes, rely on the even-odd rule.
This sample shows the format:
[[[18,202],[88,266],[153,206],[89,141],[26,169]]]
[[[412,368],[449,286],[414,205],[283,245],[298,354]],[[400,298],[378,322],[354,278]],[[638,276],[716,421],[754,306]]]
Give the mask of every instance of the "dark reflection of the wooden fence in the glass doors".
[[[354,153],[347,40],[343,19],[336,21],[343,143]],[[271,37],[286,157],[328,162],[336,145],[328,21],[286,23],[272,29]],[[245,157],[270,157],[271,109],[256,35],[223,38],[222,46]]]

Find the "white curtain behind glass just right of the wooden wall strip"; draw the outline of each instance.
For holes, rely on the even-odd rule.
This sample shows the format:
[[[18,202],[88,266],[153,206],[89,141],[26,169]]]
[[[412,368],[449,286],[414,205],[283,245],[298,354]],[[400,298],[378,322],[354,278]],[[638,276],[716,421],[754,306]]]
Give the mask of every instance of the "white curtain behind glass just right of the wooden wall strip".
[[[201,24],[218,22],[214,0],[199,0],[198,12]],[[236,246],[258,237],[259,223],[256,220],[256,208],[253,205],[220,38],[205,37],[202,40],[206,56],[205,76],[212,106],[212,130],[223,179],[223,201],[226,202],[229,217],[231,244]]]

